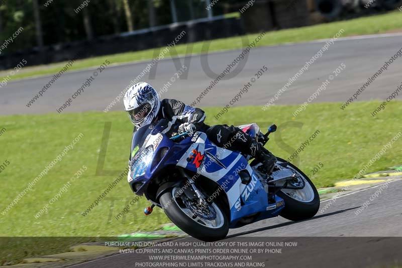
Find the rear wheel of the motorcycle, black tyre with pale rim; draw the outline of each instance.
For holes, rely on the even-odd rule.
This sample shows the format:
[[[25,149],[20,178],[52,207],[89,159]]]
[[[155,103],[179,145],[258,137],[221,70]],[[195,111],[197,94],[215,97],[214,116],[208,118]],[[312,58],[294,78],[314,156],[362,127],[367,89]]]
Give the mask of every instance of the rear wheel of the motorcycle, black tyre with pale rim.
[[[278,162],[286,162],[277,158]],[[297,166],[288,163],[290,168],[296,173],[299,180],[303,180],[303,189],[282,189],[277,195],[285,201],[285,207],[280,212],[280,216],[291,221],[301,221],[314,217],[320,208],[320,196],[310,178],[298,169]]]

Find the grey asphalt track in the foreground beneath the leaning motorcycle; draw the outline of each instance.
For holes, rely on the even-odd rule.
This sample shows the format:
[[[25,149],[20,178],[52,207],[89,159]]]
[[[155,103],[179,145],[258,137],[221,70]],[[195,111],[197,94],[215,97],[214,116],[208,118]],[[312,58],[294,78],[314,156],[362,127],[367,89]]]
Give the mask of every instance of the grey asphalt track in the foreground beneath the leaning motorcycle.
[[[284,248],[282,253],[251,254],[253,262],[264,262],[265,267],[390,267],[402,262],[402,203],[398,190],[401,187],[402,181],[389,184],[388,189],[358,215],[355,214],[357,208],[369,200],[377,188],[343,196],[335,202],[328,201],[332,202],[331,206],[310,220],[291,222],[278,217],[231,230],[222,242],[298,242],[297,247]],[[321,208],[326,203],[321,203]],[[135,262],[150,262],[149,255],[152,254],[121,253],[74,267],[134,267]]]

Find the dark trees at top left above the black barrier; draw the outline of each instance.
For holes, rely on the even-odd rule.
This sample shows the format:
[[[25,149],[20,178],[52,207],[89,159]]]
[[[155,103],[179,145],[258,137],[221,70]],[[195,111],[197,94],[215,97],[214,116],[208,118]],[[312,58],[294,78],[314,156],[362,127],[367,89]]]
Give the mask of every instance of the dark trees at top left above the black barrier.
[[[171,0],[0,0],[0,45],[24,28],[6,53],[31,47],[91,40],[174,22]],[[244,1],[219,0],[213,15],[225,5]],[[178,22],[208,16],[206,0],[174,0]],[[139,40],[140,41],[140,40]]]

